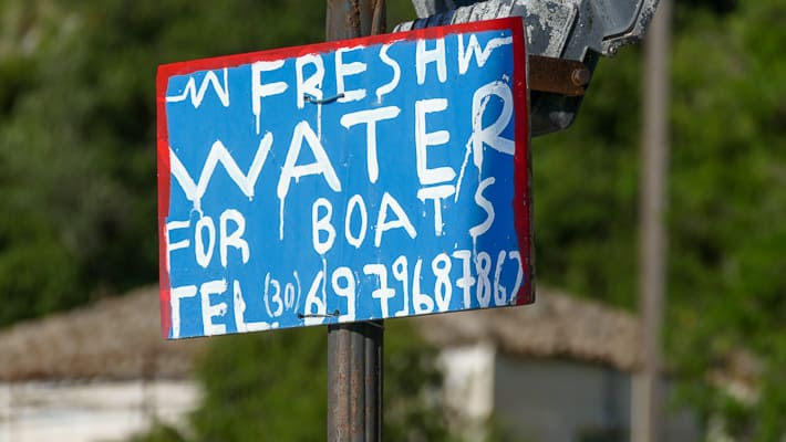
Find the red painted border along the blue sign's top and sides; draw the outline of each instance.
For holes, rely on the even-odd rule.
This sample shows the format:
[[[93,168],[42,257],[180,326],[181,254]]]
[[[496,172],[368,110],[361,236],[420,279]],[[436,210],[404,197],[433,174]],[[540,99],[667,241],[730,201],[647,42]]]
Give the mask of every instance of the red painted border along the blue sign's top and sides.
[[[158,256],[159,256],[159,292],[161,292],[161,326],[162,335],[169,336],[169,273],[167,271],[166,253],[166,217],[169,212],[169,149],[166,126],[166,87],[170,76],[183,75],[197,71],[236,67],[258,61],[275,61],[304,54],[324,53],[340,48],[370,46],[396,41],[418,39],[437,39],[470,32],[511,30],[514,42],[514,82],[513,93],[516,102],[516,154],[514,215],[518,234],[518,249],[521,254],[525,283],[517,294],[517,305],[535,301],[534,265],[532,265],[532,230],[531,230],[531,196],[530,196],[530,154],[529,154],[529,102],[527,88],[527,65],[524,40],[524,24],[520,18],[506,18],[472,23],[453,24],[448,27],[424,28],[414,31],[364,36],[360,39],[330,41],[303,46],[282,48],[269,51],[249,52],[235,55],[216,56],[158,66],[156,75],[156,109],[157,109],[157,168],[158,168]],[[521,112],[521,109],[526,109]]]

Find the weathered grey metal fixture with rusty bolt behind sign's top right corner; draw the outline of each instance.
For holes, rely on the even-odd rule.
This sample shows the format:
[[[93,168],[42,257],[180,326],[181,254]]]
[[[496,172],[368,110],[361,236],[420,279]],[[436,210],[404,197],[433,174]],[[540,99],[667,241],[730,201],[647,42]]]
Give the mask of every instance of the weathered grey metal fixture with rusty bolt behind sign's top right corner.
[[[570,126],[599,56],[612,56],[621,45],[643,39],[658,1],[412,0],[420,19],[399,24],[396,31],[520,17],[530,62],[530,127],[537,136]]]

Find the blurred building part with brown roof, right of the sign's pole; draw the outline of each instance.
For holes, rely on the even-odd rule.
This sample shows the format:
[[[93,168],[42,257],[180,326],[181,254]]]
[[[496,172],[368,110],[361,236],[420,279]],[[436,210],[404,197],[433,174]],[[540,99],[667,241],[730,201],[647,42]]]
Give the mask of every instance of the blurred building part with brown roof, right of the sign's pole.
[[[492,413],[511,440],[630,440],[631,373],[640,360],[633,315],[539,287],[524,308],[415,324],[444,348],[446,399],[469,440],[483,440]],[[701,440],[690,411],[669,413],[664,424],[666,441]]]

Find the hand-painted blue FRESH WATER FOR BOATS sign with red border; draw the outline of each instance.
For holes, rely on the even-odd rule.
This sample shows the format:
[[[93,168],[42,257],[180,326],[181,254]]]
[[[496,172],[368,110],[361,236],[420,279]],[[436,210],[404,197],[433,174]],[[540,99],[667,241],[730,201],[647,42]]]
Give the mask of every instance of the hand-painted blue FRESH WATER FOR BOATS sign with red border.
[[[531,302],[525,60],[504,19],[161,66],[164,335]]]

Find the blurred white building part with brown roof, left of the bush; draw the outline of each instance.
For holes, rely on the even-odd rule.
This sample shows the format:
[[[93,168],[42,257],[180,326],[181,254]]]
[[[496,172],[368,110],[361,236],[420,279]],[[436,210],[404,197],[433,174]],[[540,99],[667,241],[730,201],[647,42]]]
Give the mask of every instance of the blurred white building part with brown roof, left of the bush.
[[[204,341],[161,339],[155,288],[0,332],[0,442],[116,441],[185,425]]]

